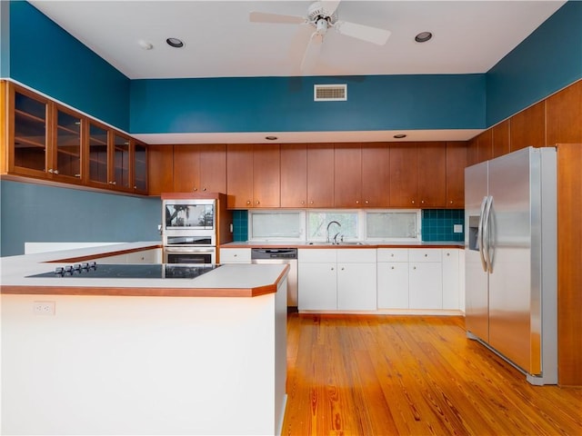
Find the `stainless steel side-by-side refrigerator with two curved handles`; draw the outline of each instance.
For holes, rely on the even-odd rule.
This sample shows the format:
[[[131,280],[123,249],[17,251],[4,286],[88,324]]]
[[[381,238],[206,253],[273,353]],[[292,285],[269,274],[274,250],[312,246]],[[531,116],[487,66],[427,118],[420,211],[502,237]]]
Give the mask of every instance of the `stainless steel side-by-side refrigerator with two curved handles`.
[[[467,336],[532,384],[557,383],[557,153],[465,169]]]

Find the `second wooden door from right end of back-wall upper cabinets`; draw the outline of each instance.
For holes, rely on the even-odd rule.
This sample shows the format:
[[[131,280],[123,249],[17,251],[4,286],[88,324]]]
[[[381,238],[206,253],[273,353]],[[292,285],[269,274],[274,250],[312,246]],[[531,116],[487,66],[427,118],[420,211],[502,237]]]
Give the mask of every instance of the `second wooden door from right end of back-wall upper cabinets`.
[[[419,143],[417,150],[418,207],[447,205],[447,143]]]

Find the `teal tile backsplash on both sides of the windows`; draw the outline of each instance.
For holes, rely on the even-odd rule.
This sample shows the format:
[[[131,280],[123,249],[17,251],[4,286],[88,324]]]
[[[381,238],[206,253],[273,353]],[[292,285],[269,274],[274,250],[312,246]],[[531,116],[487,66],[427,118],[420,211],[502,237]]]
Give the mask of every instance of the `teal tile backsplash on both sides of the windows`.
[[[465,240],[465,233],[453,233],[454,224],[465,226],[463,209],[427,209],[422,211],[421,220],[423,241]],[[248,239],[248,211],[233,211],[233,232],[233,238],[237,242]]]

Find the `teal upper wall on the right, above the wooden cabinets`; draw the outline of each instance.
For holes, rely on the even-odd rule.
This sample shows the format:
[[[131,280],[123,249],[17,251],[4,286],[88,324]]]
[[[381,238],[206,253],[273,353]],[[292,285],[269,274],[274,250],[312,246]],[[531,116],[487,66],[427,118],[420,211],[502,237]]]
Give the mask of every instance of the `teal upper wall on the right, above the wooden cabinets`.
[[[582,2],[569,1],[487,72],[487,127],[582,78]]]

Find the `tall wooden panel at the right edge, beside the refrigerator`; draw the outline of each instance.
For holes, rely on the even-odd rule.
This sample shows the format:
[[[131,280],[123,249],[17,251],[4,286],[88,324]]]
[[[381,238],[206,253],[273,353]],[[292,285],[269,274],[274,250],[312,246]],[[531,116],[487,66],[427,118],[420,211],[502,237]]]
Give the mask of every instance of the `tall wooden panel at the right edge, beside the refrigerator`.
[[[558,383],[582,386],[582,144],[557,147]]]

